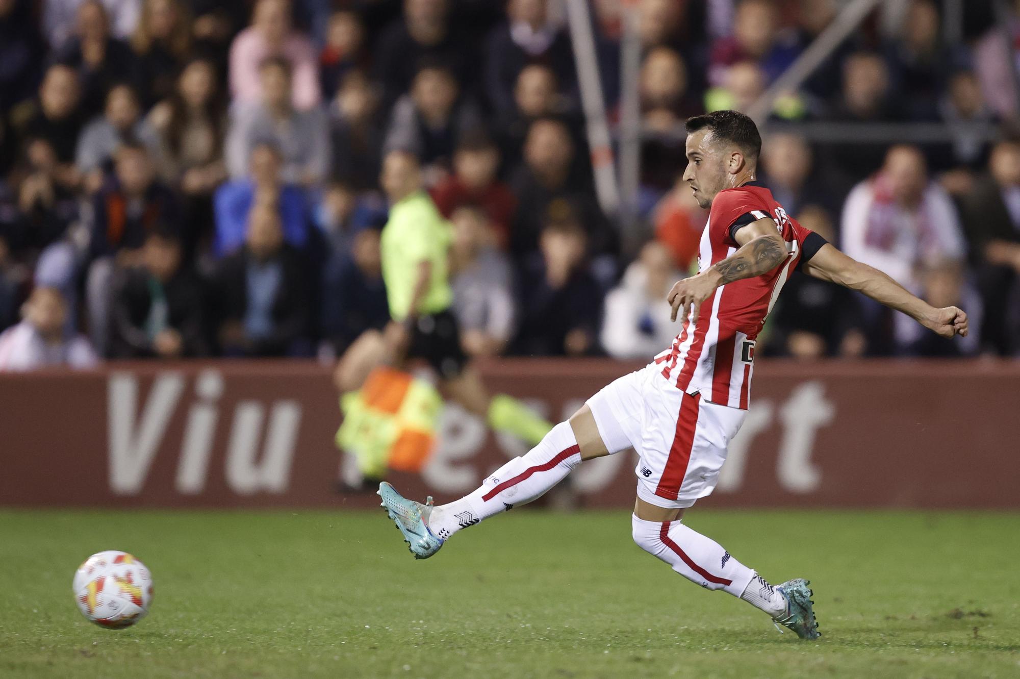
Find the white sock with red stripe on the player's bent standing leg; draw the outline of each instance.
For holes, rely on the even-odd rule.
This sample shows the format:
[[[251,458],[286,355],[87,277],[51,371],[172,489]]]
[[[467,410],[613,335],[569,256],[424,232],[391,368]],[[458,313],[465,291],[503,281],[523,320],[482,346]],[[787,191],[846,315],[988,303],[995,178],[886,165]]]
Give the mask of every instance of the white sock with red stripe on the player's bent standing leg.
[[[679,521],[631,519],[634,542],[686,579],[708,589],[741,596],[755,572],[733,559],[722,545]]]

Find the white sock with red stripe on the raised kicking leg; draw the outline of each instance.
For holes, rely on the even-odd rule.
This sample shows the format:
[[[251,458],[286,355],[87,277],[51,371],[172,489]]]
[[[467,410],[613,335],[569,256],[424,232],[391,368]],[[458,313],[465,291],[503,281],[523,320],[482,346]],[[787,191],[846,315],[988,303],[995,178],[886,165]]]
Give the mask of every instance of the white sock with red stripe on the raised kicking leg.
[[[541,498],[580,464],[580,448],[568,422],[553,427],[522,458],[514,458],[460,500],[432,509],[428,528],[447,539],[461,528]]]

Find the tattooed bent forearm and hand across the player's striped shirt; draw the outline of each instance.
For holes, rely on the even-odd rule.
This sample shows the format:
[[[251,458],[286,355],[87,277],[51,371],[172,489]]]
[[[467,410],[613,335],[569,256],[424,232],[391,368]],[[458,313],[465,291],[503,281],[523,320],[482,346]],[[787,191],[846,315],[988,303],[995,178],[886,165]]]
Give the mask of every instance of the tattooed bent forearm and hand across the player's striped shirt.
[[[683,318],[693,312],[697,321],[702,302],[719,285],[742,278],[753,278],[771,271],[786,259],[786,244],[779,236],[775,222],[766,217],[741,227],[736,234],[740,250],[716,262],[698,275],[678,280],[669,291],[666,301],[673,307],[672,319],[683,308]]]

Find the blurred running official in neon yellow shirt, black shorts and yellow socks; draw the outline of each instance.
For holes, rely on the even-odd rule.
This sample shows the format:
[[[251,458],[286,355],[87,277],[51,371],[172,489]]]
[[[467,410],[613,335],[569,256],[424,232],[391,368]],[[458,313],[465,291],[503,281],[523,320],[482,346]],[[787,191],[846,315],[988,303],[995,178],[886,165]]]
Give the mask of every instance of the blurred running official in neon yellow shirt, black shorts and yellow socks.
[[[453,230],[422,189],[418,159],[406,151],[391,151],[380,184],[390,199],[379,255],[393,320],[381,341],[370,331],[348,350],[339,372],[354,377],[340,380],[347,382],[345,390],[357,388],[375,365],[423,359],[439,374],[440,390],[468,412],[528,445],[540,442],[552,424],[510,396],[491,396],[461,348],[457,318],[450,309]]]

